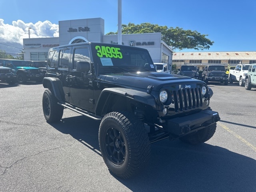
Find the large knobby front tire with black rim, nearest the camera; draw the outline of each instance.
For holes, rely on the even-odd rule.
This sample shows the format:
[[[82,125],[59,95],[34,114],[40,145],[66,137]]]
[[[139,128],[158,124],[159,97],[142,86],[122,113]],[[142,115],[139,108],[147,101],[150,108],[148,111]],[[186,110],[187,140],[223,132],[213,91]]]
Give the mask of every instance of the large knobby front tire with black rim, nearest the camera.
[[[128,111],[110,112],[102,118],[99,145],[110,172],[124,179],[138,173],[150,156],[144,124]]]

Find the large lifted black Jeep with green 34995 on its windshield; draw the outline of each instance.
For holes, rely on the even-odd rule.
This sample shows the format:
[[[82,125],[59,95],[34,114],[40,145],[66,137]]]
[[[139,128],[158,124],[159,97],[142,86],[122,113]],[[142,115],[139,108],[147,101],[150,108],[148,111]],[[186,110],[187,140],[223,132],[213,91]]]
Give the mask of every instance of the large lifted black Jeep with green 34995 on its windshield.
[[[205,82],[158,73],[148,50],[102,43],[50,48],[42,108],[47,122],[70,109],[100,121],[99,145],[109,170],[136,174],[149,159],[150,143],[179,138],[209,140],[220,120],[209,107]]]

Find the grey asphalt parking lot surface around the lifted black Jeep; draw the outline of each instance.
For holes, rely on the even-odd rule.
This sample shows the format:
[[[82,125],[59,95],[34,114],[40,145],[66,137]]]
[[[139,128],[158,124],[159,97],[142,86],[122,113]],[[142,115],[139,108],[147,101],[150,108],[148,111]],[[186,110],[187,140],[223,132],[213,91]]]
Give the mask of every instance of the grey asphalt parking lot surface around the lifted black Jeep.
[[[65,109],[59,123],[42,113],[42,84],[0,84],[0,192],[255,192],[256,88],[210,83],[214,136],[199,146],[151,145],[146,168],[116,178],[101,157],[99,122]]]

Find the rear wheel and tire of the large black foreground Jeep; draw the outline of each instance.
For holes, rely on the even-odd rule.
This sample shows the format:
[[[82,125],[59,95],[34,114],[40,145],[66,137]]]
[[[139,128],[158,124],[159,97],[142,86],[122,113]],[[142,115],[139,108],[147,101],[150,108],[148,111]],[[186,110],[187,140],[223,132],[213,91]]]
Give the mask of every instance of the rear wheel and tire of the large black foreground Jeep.
[[[53,123],[61,120],[64,108],[58,104],[51,90],[44,91],[42,106],[46,122]]]

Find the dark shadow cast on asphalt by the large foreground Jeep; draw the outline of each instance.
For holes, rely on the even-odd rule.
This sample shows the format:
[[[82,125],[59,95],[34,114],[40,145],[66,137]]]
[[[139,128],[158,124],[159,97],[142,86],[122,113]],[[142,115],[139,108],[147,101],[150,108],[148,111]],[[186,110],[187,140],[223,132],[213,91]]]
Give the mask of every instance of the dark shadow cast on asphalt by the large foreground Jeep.
[[[100,122],[75,116],[51,125],[101,156]],[[126,180],[112,176],[134,192],[253,192],[255,172],[252,158],[207,143],[194,146],[166,139],[151,144],[150,160],[138,175]]]

